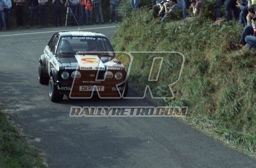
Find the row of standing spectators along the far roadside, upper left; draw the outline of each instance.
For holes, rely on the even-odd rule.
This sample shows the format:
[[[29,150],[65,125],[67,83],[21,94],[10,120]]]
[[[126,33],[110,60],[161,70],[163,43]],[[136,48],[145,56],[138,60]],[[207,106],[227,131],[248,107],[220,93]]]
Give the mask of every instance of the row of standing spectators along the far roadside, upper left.
[[[101,0],[50,0],[54,5],[54,24],[62,26],[63,12],[69,14],[71,25],[93,24],[93,13],[95,14],[96,24],[104,23]],[[15,8],[17,27],[23,26],[23,8],[25,0],[0,0],[0,30],[10,29],[11,8]],[[110,21],[118,22],[119,0],[109,0],[110,2]],[[134,0],[135,9],[138,9],[138,0]],[[47,3],[48,0],[29,0],[30,26],[41,24],[47,27]],[[65,8],[64,8],[65,7]],[[63,11],[65,10],[65,11]],[[39,17],[40,16],[40,17]],[[40,20],[39,20],[40,18]],[[40,22],[39,22],[40,21]]]

